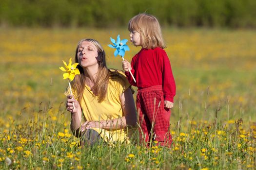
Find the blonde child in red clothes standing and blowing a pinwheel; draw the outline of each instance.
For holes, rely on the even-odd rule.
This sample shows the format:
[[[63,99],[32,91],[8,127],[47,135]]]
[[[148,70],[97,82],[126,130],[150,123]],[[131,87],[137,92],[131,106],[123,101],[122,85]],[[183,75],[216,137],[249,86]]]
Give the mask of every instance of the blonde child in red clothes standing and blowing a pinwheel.
[[[141,46],[131,64],[127,60],[122,64],[130,84],[138,86],[136,105],[142,130],[140,139],[145,142],[153,139],[161,146],[170,147],[170,108],[173,107],[176,85],[170,61],[163,50],[165,43],[158,19],[139,14],[129,21],[128,29],[131,42]]]

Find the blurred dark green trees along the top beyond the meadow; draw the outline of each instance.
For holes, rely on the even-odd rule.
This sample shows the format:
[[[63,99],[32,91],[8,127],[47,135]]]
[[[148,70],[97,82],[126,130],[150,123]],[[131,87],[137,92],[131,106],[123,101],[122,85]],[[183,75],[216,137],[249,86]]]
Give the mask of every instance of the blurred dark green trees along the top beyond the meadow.
[[[178,27],[256,27],[256,0],[0,0],[0,25],[126,26],[139,13]]]

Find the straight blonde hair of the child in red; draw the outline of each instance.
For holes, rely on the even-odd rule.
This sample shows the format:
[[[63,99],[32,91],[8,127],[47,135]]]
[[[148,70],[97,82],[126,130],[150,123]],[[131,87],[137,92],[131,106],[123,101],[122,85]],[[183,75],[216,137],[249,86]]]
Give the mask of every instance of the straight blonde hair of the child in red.
[[[133,17],[129,21],[128,30],[130,32],[137,31],[140,34],[142,48],[166,48],[158,19],[152,15],[138,14]]]

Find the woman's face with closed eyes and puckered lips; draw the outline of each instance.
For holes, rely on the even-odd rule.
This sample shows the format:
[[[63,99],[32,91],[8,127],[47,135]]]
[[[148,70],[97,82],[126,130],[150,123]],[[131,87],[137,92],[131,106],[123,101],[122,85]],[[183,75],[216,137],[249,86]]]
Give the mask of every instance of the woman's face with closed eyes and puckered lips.
[[[81,44],[78,47],[77,58],[78,63],[82,68],[98,66],[97,47],[89,41],[81,42]]]

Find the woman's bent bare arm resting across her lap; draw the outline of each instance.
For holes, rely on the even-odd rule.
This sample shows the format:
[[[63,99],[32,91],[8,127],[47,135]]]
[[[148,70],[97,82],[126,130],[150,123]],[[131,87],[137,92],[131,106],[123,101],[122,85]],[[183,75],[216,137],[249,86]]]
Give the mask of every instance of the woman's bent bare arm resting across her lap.
[[[124,116],[118,119],[100,120],[100,121],[86,121],[81,126],[81,131],[90,128],[101,129],[123,129],[128,126],[135,126],[137,122],[136,109],[133,100],[133,94],[131,88],[126,89],[120,96],[122,110]]]

